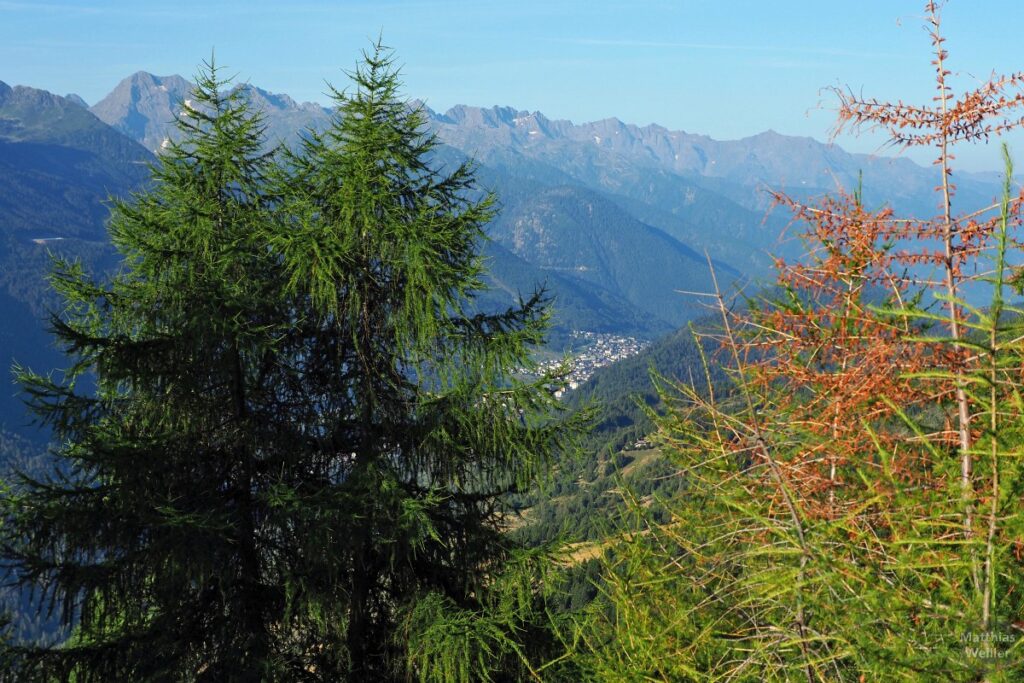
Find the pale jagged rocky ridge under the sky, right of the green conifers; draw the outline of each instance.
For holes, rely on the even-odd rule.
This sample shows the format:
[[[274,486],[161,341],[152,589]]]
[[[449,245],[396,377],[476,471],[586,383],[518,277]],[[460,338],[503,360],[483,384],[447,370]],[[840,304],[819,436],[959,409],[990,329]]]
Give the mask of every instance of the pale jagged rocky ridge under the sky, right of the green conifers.
[[[583,124],[553,121],[540,112],[509,106],[457,105],[431,115],[445,141],[480,159],[515,148],[573,176],[589,175],[612,191],[614,172],[628,165],[697,181],[706,190],[760,211],[767,196],[754,191],[757,188],[830,193],[837,186],[853,189],[862,174],[869,202],[886,199],[897,209],[926,212],[935,205],[932,168],[905,158],[849,154],[836,144],[770,130],[738,140],[715,140],[617,119]],[[607,177],[595,177],[602,169]],[[981,174],[958,174],[957,181],[968,202],[975,196],[985,201],[992,189],[991,178]]]

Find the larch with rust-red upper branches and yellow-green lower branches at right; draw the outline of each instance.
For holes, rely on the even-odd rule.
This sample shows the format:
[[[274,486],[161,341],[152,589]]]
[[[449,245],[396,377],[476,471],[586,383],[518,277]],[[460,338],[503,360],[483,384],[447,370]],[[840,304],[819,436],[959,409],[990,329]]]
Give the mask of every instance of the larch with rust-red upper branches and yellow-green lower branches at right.
[[[1024,194],[1007,147],[989,206],[954,212],[951,171],[954,144],[1024,124],[1024,74],[954,96],[942,7],[933,103],[837,92],[841,128],[935,150],[937,215],[776,196],[808,253],[749,307],[716,293],[731,393],[663,383],[688,487],[613,546],[594,679],[1024,677]]]

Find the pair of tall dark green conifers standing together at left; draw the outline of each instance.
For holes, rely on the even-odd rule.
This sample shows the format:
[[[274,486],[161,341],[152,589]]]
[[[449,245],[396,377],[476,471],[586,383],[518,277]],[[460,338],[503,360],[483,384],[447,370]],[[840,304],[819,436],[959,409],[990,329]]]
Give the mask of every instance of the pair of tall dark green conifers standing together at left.
[[[114,205],[124,267],[58,263],[59,437],[5,494],[3,560],[74,629],[18,680],[516,679],[543,563],[505,495],[573,433],[543,297],[475,312],[494,198],[398,98],[377,45],[330,128],[268,155],[215,69],[150,187]],[[540,650],[537,650],[540,651]]]

